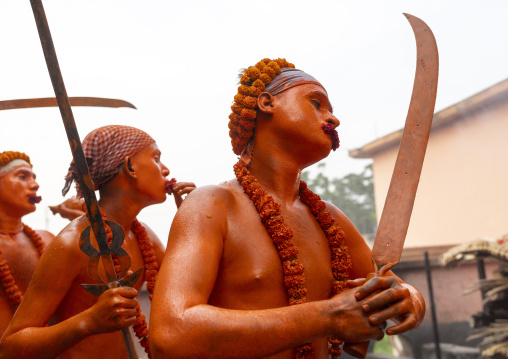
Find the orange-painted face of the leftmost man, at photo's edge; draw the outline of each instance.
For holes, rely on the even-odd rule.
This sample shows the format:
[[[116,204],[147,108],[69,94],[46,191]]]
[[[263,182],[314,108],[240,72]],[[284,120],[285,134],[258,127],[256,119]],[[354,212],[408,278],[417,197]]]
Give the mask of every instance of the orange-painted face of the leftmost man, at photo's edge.
[[[38,189],[32,167],[26,164],[14,168],[0,177],[0,209],[19,217],[34,212],[33,198]]]

